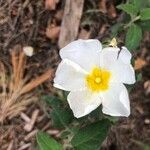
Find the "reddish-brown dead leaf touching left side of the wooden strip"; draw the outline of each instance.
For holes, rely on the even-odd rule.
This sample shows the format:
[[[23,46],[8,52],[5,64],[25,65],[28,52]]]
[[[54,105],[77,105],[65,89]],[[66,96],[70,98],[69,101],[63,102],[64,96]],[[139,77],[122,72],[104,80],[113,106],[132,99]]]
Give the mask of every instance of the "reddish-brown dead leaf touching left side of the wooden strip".
[[[46,29],[46,36],[51,40],[56,40],[59,37],[60,26],[54,24],[49,25]]]

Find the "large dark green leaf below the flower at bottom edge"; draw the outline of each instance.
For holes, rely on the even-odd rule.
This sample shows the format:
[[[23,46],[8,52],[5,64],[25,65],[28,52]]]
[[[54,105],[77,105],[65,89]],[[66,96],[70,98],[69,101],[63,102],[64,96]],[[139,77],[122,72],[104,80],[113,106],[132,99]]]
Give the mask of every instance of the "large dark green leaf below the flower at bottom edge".
[[[71,140],[75,150],[98,150],[105,140],[111,123],[101,120],[81,128]]]

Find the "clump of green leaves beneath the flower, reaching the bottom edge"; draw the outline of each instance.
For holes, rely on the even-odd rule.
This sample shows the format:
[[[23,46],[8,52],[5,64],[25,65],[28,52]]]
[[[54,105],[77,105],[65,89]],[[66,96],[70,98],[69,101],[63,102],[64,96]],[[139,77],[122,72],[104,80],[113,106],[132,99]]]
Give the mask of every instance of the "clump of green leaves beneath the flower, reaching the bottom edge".
[[[64,97],[66,98],[66,95]],[[66,102],[62,100],[64,97],[61,99],[54,96],[43,97],[43,100],[52,108],[48,114],[53,121],[53,126],[61,128],[60,140],[68,141],[68,149],[98,150],[111,124],[116,122],[116,118],[103,115],[102,108],[98,107],[91,114],[76,119]],[[43,132],[37,134],[37,142],[40,150],[62,149],[57,141]],[[63,145],[63,148],[66,146]]]

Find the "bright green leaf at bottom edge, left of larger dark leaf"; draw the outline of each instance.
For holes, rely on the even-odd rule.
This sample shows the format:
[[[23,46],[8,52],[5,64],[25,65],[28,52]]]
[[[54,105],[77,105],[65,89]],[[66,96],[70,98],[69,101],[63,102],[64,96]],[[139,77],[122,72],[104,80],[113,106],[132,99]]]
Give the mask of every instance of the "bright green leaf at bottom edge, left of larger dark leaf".
[[[40,150],[62,150],[61,144],[44,132],[39,131],[36,139]]]

